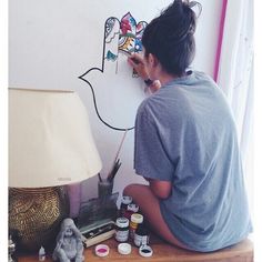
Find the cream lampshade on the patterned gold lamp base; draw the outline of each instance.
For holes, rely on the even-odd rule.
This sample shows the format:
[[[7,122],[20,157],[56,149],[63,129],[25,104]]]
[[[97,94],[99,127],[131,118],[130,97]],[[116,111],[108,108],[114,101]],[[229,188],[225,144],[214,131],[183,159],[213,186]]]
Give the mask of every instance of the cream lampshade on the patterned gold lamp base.
[[[9,187],[70,184],[100,170],[87,109],[74,91],[9,89]]]

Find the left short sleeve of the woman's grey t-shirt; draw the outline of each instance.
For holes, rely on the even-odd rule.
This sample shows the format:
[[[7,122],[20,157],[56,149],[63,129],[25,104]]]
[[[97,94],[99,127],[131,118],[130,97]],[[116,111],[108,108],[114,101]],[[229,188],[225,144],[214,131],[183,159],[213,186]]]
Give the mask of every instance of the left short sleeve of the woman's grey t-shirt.
[[[144,178],[172,181],[174,167],[160,135],[160,125],[147,107],[140,107],[135,119],[134,170]]]

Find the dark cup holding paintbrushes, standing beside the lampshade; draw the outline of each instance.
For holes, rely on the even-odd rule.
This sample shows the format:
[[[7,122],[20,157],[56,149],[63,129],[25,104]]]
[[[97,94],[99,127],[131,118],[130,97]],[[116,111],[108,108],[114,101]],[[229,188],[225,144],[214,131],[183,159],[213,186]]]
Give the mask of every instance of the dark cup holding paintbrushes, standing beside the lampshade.
[[[99,198],[105,198],[112,194],[113,180],[114,180],[115,174],[119,171],[120,165],[121,165],[121,162],[119,159],[114,161],[113,167],[111,171],[109,172],[107,179],[102,179],[100,173],[98,174],[99,175],[99,183],[98,183]]]

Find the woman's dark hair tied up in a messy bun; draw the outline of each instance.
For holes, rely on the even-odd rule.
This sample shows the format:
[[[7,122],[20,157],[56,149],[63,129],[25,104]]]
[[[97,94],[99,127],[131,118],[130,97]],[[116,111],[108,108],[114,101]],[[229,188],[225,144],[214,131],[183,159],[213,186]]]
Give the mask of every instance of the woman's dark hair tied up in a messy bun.
[[[182,75],[195,53],[194,31],[196,17],[191,9],[198,2],[174,0],[145,28],[142,44],[145,57],[154,54],[163,69]]]

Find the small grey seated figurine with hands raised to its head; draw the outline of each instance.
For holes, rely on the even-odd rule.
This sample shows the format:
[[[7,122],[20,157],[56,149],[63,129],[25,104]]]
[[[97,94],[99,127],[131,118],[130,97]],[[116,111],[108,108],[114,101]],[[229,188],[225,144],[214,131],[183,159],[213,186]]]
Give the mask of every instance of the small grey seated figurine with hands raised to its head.
[[[62,221],[52,258],[60,262],[82,262],[84,260],[81,233],[72,219]]]

